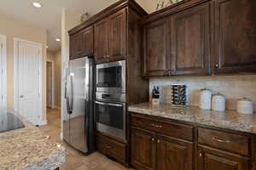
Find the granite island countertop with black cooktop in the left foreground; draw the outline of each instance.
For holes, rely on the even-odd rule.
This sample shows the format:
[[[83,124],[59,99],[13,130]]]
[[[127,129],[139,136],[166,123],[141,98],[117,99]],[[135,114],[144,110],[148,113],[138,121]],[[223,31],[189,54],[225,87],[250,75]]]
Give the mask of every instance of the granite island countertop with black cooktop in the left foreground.
[[[0,109],[1,112],[6,110]],[[41,129],[8,111],[25,127],[0,133],[0,170],[54,170],[65,162],[64,146],[50,139]]]

